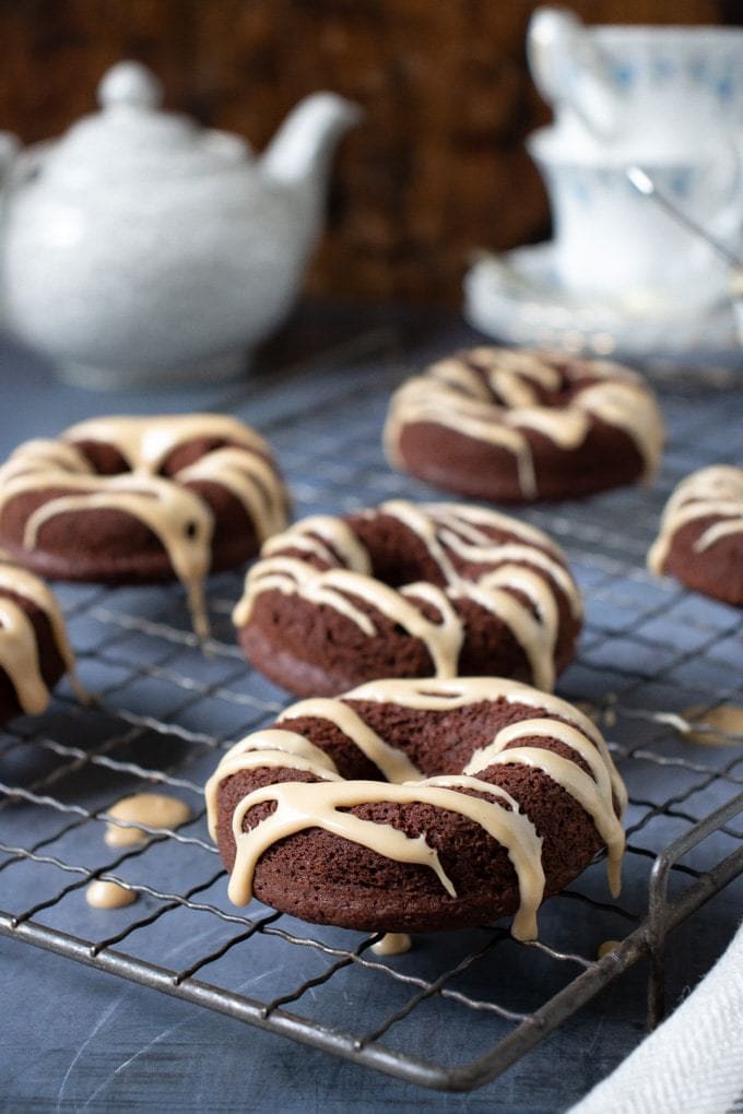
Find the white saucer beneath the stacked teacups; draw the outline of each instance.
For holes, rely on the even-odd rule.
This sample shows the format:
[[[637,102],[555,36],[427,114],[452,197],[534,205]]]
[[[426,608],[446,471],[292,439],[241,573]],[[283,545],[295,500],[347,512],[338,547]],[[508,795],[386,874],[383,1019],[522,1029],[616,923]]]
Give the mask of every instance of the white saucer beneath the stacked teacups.
[[[730,372],[743,364],[730,302],[683,309],[590,303],[560,284],[551,243],[480,255],[465,278],[465,316],[505,343],[630,359],[663,372]]]

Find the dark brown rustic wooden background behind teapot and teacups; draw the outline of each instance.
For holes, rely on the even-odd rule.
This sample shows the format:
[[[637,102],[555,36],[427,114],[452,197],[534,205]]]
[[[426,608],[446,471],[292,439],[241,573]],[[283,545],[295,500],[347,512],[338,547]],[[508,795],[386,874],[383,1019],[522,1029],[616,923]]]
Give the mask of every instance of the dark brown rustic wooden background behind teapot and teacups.
[[[172,108],[261,149],[315,89],[365,119],[335,163],[314,293],[458,304],[467,261],[549,234],[524,137],[530,0],[0,0],[0,129],[89,111],[106,68],[150,66]],[[741,0],[573,0],[586,22],[742,23]]]

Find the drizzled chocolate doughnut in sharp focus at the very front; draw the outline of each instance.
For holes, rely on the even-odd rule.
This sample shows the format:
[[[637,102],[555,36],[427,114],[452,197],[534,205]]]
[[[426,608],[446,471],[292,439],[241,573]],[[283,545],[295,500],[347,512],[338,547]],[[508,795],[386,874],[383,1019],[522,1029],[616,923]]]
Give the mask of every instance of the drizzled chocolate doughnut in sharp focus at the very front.
[[[608,851],[626,792],[595,725],[492,677],[375,681],[287,709],[206,785],[229,897],[316,924],[437,931],[536,911]]]

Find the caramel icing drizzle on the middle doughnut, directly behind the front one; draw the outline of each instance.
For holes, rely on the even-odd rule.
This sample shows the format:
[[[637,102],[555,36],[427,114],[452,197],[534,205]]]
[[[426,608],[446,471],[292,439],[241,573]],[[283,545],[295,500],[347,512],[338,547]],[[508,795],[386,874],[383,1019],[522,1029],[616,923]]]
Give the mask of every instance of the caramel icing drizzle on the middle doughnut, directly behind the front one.
[[[245,594],[233,613],[235,625],[241,627],[250,620],[258,596],[276,590],[333,607],[372,637],[373,619],[354,602],[362,599],[423,642],[436,676],[453,677],[465,638],[463,620],[453,602],[469,598],[508,626],[529,662],[534,683],[553,688],[559,618],[555,586],[563,590],[576,617],[581,612],[578,589],[557,546],[532,526],[477,507],[416,506],[393,500],[366,511],[370,517],[378,514],[397,518],[420,538],[441,570],[446,587],[417,583],[391,588],[370,575],[369,555],[348,522],[325,516],[307,518],[264,546],[262,559],[248,573]],[[508,530],[518,540],[500,545],[486,532],[488,527]],[[301,557],[283,555],[294,550],[320,556],[335,567],[317,569]],[[457,573],[452,554],[489,568],[477,580],[467,579]],[[339,559],[345,568],[338,567]],[[524,603],[517,592],[532,606]],[[423,615],[417,600],[430,604],[437,618]]]

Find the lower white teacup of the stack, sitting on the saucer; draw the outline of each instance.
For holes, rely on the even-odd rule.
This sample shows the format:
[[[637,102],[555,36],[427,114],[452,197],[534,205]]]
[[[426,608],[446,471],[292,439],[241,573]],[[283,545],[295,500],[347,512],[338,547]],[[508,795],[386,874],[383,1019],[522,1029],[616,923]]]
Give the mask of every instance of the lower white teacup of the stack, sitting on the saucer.
[[[626,170],[639,162],[659,192],[734,250],[743,227],[743,185],[730,139],[692,156],[586,147],[548,127],[527,146],[549,190],[555,265],[568,290],[608,296],[638,312],[703,306],[725,295],[727,267],[714,250],[639,194]]]

